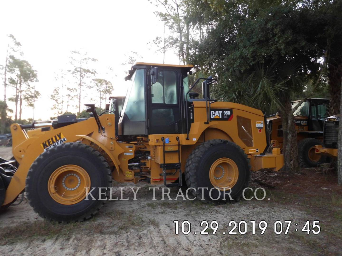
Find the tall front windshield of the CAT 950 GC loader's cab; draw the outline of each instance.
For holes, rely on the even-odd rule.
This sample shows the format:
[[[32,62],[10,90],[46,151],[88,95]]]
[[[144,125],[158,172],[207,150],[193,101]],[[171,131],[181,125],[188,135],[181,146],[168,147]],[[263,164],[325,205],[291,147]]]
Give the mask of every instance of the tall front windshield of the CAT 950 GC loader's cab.
[[[131,121],[146,121],[144,73],[144,69],[135,70],[123,104],[122,113]]]

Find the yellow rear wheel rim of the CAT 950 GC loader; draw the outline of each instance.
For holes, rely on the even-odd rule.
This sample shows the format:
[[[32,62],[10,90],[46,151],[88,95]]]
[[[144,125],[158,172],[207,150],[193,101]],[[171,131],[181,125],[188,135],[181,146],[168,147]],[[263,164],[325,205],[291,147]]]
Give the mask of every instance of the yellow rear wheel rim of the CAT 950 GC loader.
[[[211,165],[209,177],[211,184],[220,190],[232,188],[238,180],[239,169],[232,159],[222,157]]]

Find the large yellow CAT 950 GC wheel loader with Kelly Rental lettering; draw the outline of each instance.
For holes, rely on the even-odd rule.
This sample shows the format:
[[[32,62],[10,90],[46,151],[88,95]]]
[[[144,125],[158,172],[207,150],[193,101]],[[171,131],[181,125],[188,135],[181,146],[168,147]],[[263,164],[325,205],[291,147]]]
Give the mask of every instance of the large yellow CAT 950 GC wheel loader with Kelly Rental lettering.
[[[12,124],[15,160],[0,163],[2,208],[26,191],[41,217],[83,221],[101,208],[112,179],[170,187],[183,176],[203,201],[224,200],[226,189],[239,200],[251,170],[279,170],[283,156],[269,146],[263,113],[211,99],[211,76],[189,87],[192,67],[138,62],[122,109],[114,99],[99,115],[86,104],[90,118]],[[202,99],[192,92],[200,81]]]

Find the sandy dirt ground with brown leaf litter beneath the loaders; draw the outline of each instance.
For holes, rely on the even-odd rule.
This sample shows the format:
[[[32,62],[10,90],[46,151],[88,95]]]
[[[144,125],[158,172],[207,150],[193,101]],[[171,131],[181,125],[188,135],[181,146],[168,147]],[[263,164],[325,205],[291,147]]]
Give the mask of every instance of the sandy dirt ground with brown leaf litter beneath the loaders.
[[[11,156],[9,150],[0,147],[1,156],[6,151]],[[0,255],[341,255],[342,192],[336,183],[335,173],[316,169],[293,176],[257,172],[250,186],[264,187],[266,198],[234,204],[162,201],[158,190],[154,201],[145,183],[115,183],[112,198],[120,198],[123,187],[123,198],[129,200],[108,201],[92,219],[66,225],[43,220],[24,198],[0,214]],[[136,201],[130,187],[141,187]],[[170,197],[177,192],[171,188]],[[215,234],[211,228],[200,234],[204,220],[219,223]],[[173,221],[179,221],[179,234]],[[189,234],[181,231],[183,221],[191,223]],[[247,232],[228,234],[230,221],[246,221]],[[250,221],[256,223],[255,234]],[[260,221],[268,224],[264,234]],[[274,232],[276,221],[284,224],[281,234]],[[292,221],[287,234],[284,221]],[[302,232],[306,221],[319,221],[320,233]]]

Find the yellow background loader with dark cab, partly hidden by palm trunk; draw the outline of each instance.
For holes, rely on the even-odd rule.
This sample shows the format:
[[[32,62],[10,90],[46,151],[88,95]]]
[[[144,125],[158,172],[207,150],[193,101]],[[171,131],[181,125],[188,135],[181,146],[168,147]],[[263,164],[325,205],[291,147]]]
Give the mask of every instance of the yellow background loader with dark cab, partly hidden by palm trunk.
[[[291,102],[292,108],[301,100]],[[315,153],[315,145],[323,146],[323,129],[328,117],[329,99],[310,98],[304,101],[294,112],[294,123],[297,130],[299,160],[302,166],[315,167],[325,162],[326,157]],[[267,117],[271,140],[278,141],[282,148],[283,131],[281,116]]]

